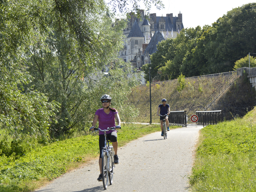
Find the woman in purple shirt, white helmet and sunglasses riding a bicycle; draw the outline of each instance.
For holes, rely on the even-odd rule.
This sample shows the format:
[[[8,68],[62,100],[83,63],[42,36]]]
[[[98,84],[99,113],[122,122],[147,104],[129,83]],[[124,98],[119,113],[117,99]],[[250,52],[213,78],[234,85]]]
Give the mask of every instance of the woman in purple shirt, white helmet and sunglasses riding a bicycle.
[[[101,109],[98,109],[95,112],[93,121],[92,121],[92,127],[90,127],[91,130],[95,128],[95,125],[97,123],[97,120],[99,120],[99,128],[100,129],[107,129],[108,127],[116,127],[118,130],[121,128],[120,124],[120,118],[118,115],[118,112],[114,108],[110,108],[111,104],[111,97],[109,95],[103,95],[101,96],[101,104],[102,107]],[[117,122],[117,126],[115,125],[115,119]],[[117,147],[118,147],[118,142],[117,142],[117,131],[116,130],[110,130],[107,131],[107,138],[112,142],[112,146],[114,148],[114,163],[118,164],[119,159],[117,155]],[[99,131],[99,148],[100,148],[100,156],[99,156],[99,167],[100,167],[100,175],[99,178],[97,179],[98,181],[102,181],[102,170],[101,170],[101,163],[102,163],[102,147],[104,147],[104,141],[105,141],[105,136],[104,132]]]

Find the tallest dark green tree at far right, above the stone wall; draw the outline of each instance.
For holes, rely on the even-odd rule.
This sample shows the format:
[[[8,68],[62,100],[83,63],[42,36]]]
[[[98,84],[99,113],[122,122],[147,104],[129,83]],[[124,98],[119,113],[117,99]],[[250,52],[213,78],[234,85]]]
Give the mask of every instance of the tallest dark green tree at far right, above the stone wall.
[[[248,3],[227,12],[209,28],[203,37],[203,52],[209,72],[231,71],[238,58],[255,53],[256,3]],[[202,38],[203,38],[202,37]]]

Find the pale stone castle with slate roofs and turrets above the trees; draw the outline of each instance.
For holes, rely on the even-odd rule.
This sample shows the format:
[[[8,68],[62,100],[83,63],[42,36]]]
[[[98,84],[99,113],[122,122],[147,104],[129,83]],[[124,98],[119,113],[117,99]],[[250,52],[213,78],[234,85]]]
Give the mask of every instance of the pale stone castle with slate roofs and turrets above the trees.
[[[130,62],[133,68],[140,71],[144,64],[151,63],[150,55],[157,51],[157,44],[167,38],[176,38],[183,29],[182,13],[174,17],[172,13],[166,16],[149,14],[149,20],[144,17],[144,10],[140,10],[143,18],[139,20],[130,13],[131,18],[124,29],[124,47],[119,51],[119,58]],[[136,72],[136,71],[133,71]],[[129,76],[129,75],[128,75]],[[144,78],[140,78],[144,84]]]

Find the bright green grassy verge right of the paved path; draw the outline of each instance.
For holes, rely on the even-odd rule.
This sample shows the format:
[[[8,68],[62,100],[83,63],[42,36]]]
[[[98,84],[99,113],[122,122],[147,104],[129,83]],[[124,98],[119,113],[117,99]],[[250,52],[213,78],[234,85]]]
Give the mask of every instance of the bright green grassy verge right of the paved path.
[[[201,130],[191,191],[256,191],[255,112]]]

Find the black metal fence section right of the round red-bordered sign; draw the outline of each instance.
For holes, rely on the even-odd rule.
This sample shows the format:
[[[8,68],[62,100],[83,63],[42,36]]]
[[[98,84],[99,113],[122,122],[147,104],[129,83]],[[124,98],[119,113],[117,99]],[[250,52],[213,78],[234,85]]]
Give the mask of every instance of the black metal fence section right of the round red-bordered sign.
[[[196,124],[213,125],[223,121],[223,113],[220,111],[196,111],[198,121]]]

